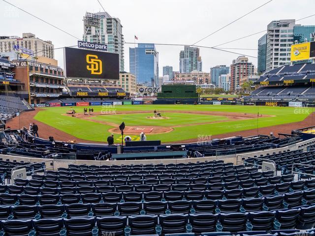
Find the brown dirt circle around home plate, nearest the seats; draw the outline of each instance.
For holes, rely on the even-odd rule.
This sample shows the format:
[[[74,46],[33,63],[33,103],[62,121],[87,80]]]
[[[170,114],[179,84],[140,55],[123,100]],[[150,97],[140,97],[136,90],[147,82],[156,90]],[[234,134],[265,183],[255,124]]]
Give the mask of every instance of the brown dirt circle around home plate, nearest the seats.
[[[161,134],[168,133],[173,131],[171,127],[163,127],[163,126],[126,126],[124,129],[125,134],[140,134],[144,132],[145,134]],[[119,127],[111,128],[108,130],[110,133],[120,134],[121,131]]]

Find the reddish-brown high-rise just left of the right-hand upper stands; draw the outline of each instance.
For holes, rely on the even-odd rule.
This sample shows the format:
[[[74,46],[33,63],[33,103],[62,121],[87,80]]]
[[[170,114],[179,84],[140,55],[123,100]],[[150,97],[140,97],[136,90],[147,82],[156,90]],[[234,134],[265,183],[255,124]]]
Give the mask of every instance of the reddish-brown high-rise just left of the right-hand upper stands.
[[[254,65],[245,56],[239,56],[231,64],[231,90],[240,89],[240,80],[254,74]]]

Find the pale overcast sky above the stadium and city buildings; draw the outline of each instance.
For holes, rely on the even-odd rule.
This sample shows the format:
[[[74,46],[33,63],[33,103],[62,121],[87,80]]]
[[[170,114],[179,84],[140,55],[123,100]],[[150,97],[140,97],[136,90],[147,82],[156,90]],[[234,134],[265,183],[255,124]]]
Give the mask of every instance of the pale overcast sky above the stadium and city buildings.
[[[33,15],[82,39],[83,16],[103,11],[97,0],[7,0]],[[118,17],[123,25],[125,41],[125,71],[129,71],[129,47],[136,43],[193,44],[226,24],[252,11],[268,0],[99,0],[105,10]],[[22,36],[32,32],[43,40],[51,40],[55,48],[73,46],[77,39],[0,0],[0,35]],[[267,29],[272,20],[301,19],[314,14],[315,0],[272,0],[258,10],[198,42],[198,46],[214,47]],[[315,25],[315,16],[296,22]],[[222,45],[240,55],[249,55],[257,65],[257,40],[264,33]],[[179,52],[184,46],[157,45],[159,75],[162,67],[179,70]],[[254,50],[245,50],[254,49]],[[203,71],[216,65],[230,65],[239,55],[200,48]],[[63,50],[55,50],[55,59],[63,67]]]

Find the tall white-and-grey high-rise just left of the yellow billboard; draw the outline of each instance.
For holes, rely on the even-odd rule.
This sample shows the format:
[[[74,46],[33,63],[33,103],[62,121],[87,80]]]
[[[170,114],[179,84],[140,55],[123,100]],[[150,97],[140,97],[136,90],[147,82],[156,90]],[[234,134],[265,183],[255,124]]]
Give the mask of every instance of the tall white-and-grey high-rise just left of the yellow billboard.
[[[290,64],[294,19],[272,21],[267,26],[266,71]]]

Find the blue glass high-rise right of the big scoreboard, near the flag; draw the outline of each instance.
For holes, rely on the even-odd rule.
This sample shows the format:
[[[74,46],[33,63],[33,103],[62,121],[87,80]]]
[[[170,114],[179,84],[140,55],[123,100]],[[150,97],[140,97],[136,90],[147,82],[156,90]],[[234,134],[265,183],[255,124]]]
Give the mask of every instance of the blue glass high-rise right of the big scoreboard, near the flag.
[[[129,70],[137,78],[137,84],[157,86],[158,52],[152,43],[138,43],[138,47],[129,48]]]

